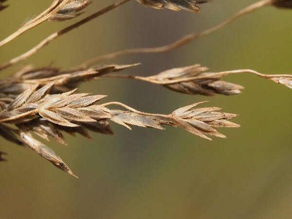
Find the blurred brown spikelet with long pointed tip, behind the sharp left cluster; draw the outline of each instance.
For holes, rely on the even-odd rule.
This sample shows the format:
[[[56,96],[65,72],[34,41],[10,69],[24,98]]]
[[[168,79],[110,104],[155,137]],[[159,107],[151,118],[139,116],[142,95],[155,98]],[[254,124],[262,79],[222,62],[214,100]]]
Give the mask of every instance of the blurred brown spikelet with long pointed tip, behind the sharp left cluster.
[[[102,65],[85,71],[61,71],[58,68],[51,67],[38,69],[28,68],[25,71],[19,71],[10,78],[0,80],[0,92],[9,95],[18,95],[29,89],[32,84],[44,86],[53,81],[54,85],[50,90],[51,94],[67,92],[78,87],[80,83],[93,79],[97,75],[114,73],[137,65]]]

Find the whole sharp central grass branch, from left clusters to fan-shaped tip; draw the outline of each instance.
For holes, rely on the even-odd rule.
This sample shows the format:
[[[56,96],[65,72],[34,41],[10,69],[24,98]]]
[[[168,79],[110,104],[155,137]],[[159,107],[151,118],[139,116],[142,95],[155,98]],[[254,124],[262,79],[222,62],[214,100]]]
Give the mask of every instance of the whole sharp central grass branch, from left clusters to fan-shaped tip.
[[[87,138],[91,138],[87,130],[113,134],[108,119],[129,129],[129,125],[157,129],[164,129],[162,125],[178,126],[208,140],[211,138],[206,135],[225,138],[216,127],[239,127],[227,121],[236,114],[216,112],[219,108],[196,108],[201,103],[180,108],[168,115],[151,114],[118,102],[97,105],[105,95],[74,94],[76,89],[61,94],[49,94],[53,85],[54,82],[50,82],[39,89],[39,84],[32,85],[10,103],[7,101],[0,112],[0,135],[18,145],[29,146],[41,157],[73,176],[68,165],[51,148],[37,141],[30,132],[47,141],[49,137],[53,137],[65,145],[62,131],[79,133]],[[120,105],[129,111],[109,110],[106,106],[110,105]],[[14,124],[18,129],[8,128],[4,123]],[[19,139],[15,133],[19,135]]]

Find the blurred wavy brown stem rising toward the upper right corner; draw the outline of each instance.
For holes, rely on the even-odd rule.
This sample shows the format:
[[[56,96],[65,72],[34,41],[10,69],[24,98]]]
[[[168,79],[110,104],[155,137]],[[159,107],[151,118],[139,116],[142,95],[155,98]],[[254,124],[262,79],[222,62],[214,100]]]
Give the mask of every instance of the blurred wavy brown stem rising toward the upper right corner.
[[[260,0],[252,5],[247,6],[246,8],[240,10],[239,12],[237,12],[236,14],[234,14],[232,17],[228,18],[227,20],[223,21],[222,23],[204,30],[202,32],[199,33],[191,33],[188,34],[184,37],[182,37],[181,39],[178,39],[177,41],[164,45],[164,46],[160,46],[160,47],[150,47],[150,48],[134,48],[134,49],[127,49],[127,50],[122,50],[122,51],[118,51],[118,52],[114,52],[114,53],[110,53],[107,55],[101,55],[101,56],[97,56],[92,58],[91,60],[88,60],[87,62],[79,65],[77,67],[77,69],[86,69],[88,68],[88,66],[91,66],[99,61],[102,60],[107,60],[107,59],[111,59],[111,58],[115,58],[121,55],[129,55],[129,54],[138,54],[138,53],[163,53],[163,52],[167,52],[167,51],[171,51],[174,49],[177,49],[181,46],[184,46],[200,37],[204,37],[206,35],[209,35],[223,27],[225,27],[226,25],[228,25],[229,23],[233,22],[234,20],[236,20],[237,18],[249,14],[251,12],[254,12],[260,8],[262,8],[263,6],[266,5],[270,5],[271,3],[273,3],[274,0]]]

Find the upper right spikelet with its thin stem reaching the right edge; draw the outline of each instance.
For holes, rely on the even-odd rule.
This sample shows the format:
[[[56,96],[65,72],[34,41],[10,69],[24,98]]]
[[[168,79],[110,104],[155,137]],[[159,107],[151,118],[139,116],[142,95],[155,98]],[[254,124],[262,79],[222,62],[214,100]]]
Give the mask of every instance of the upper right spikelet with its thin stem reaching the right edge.
[[[142,80],[153,84],[163,85],[170,90],[181,93],[214,96],[217,93],[224,95],[239,94],[241,93],[241,90],[244,89],[241,85],[222,81],[221,78],[223,76],[233,73],[252,73],[261,78],[272,80],[292,89],[292,74],[262,74],[250,69],[218,73],[206,72],[207,70],[208,68],[201,67],[197,64],[183,68],[170,69],[148,77],[119,74],[107,74],[102,75],[101,77]],[[98,75],[97,78],[100,78],[100,76]]]

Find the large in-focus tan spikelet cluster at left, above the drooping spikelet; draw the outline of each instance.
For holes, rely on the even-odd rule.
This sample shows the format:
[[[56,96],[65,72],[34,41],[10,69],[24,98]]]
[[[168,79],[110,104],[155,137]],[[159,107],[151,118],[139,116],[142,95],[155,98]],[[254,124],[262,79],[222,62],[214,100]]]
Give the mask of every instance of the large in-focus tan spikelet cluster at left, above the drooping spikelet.
[[[76,89],[61,94],[45,95],[53,84],[54,82],[37,91],[35,91],[37,85],[34,85],[29,91],[19,94],[7,106],[6,110],[2,110],[0,118],[2,120],[8,118],[9,121],[6,120],[6,122],[20,124],[31,121],[39,115],[52,123],[65,127],[79,126],[72,121],[96,122],[91,117],[97,118],[100,116],[100,108],[97,107],[95,110],[94,106],[89,106],[105,97],[105,95],[72,94]]]

